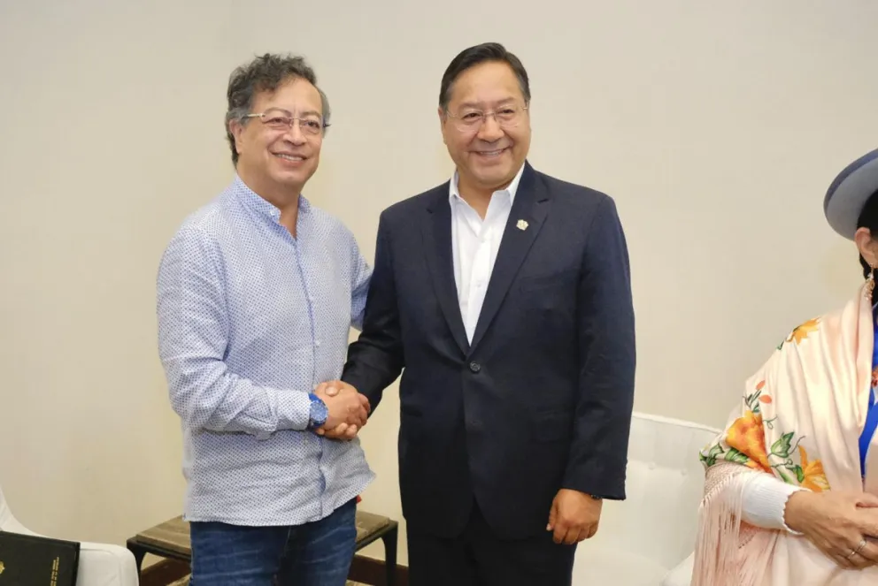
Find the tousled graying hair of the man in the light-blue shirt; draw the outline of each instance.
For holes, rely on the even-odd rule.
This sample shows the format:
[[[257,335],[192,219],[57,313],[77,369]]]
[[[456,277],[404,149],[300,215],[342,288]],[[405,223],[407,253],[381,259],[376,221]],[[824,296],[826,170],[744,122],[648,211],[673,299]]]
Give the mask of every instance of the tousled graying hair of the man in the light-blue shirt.
[[[238,151],[235,148],[235,136],[229,123],[237,120],[244,124],[253,107],[253,98],[259,92],[273,92],[289,80],[305,80],[320,94],[320,105],[323,110],[323,133],[326,134],[332,110],[323,90],[317,86],[317,75],[308,65],[304,57],[293,55],[275,55],[266,53],[256,57],[250,63],[237,67],[228,78],[228,110],[226,111],[226,137],[232,149],[232,163],[238,163]]]

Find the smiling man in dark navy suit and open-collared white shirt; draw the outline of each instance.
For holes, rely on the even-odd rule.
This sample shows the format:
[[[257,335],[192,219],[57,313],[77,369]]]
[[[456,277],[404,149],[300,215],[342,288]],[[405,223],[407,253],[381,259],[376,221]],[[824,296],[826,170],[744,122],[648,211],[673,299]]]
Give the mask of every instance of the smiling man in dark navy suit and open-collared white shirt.
[[[610,197],[535,171],[528,74],[497,43],[442,80],[451,181],[381,214],[343,383],[399,387],[413,586],[571,582],[625,498],[635,380],[628,250]]]

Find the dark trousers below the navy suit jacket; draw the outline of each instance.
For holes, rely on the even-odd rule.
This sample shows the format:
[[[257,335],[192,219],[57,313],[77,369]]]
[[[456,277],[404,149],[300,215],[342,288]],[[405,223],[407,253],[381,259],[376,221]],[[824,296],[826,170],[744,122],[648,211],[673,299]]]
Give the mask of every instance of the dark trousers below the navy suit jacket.
[[[549,512],[546,512],[548,521]],[[410,586],[570,586],[576,545],[558,545],[551,533],[520,540],[497,537],[477,505],[454,538],[406,530]]]

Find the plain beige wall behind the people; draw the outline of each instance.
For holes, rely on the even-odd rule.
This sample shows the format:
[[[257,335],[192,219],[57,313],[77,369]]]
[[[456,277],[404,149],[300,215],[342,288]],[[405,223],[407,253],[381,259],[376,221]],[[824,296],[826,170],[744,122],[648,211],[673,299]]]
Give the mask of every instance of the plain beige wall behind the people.
[[[619,204],[639,410],[720,423],[791,327],[851,294],[821,201],[878,146],[873,0],[465,4],[0,3],[0,479],[22,521],[123,543],[180,510],[155,271],[230,177],[227,75],[257,52],[317,68],[335,124],[307,194],[370,259],[381,209],[451,172],[445,65],[517,52],[533,164]],[[398,518],[396,407],[362,437],[365,506]]]

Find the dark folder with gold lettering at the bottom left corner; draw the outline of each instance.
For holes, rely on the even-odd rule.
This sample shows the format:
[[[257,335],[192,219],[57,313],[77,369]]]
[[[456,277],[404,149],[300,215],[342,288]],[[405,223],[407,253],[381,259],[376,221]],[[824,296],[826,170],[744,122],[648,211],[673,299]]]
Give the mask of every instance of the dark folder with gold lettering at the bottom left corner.
[[[80,544],[0,531],[0,586],[73,586]]]

